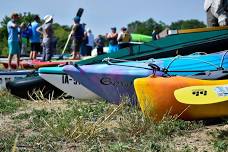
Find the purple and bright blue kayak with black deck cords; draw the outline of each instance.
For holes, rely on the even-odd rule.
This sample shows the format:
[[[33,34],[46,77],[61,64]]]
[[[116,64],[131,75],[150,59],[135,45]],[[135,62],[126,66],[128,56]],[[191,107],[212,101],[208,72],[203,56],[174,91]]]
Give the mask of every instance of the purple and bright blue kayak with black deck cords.
[[[228,68],[226,53],[226,51],[222,51],[205,55],[194,54],[146,61],[119,63],[108,61],[108,64],[66,65],[63,67],[63,71],[111,103],[119,104],[122,97],[126,96],[134,105],[137,103],[133,87],[134,79],[151,74],[188,76],[204,71]]]

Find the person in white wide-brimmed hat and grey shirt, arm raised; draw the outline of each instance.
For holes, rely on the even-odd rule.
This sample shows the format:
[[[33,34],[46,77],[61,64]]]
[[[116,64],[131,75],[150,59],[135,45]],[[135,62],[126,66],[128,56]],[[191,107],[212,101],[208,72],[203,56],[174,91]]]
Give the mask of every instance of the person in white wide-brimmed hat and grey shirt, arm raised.
[[[53,17],[46,15],[44,17],[44,24],[37,28],[37,32],[43,35],[43,58],[42,61],[50,61],[53,56],[53,39],[54,31],[52,29]]]

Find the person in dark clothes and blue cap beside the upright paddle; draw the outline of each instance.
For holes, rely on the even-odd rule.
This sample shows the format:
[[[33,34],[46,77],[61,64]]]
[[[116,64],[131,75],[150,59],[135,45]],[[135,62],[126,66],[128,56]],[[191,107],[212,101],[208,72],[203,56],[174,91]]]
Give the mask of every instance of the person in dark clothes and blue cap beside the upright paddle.
[[[80,24],[80,17],[74,17],[74,24],[72,26],[71,34],[72,35],[72,58],[71,59],[80,59],[80,48],[82,46],[82,41],[84,38],[84,28]]]

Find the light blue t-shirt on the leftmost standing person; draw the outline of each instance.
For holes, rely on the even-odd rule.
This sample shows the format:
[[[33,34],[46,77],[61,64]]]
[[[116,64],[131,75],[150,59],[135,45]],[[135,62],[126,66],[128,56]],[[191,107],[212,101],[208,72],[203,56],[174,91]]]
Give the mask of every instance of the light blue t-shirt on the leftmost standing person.
[[[12,20],[7,23],[8,41],[18,42],[18,28],[13,27],[14,25]]]

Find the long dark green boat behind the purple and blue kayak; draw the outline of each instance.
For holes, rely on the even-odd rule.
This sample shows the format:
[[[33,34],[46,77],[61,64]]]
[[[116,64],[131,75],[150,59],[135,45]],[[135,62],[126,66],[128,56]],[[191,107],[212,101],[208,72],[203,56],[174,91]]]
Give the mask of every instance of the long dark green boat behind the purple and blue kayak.
[[[192,29],[196,30],[197,29]],[[104,58],[123,60],[144,60],[150,58],[165,58],[176,55],[188,55],[197,51],[213,53],[228,49],[228,27],[204,28],[199,32],[172,34],[156,41],[143,43],[120,49],[87,60],[77,61],[77,65],[101,63]]]

